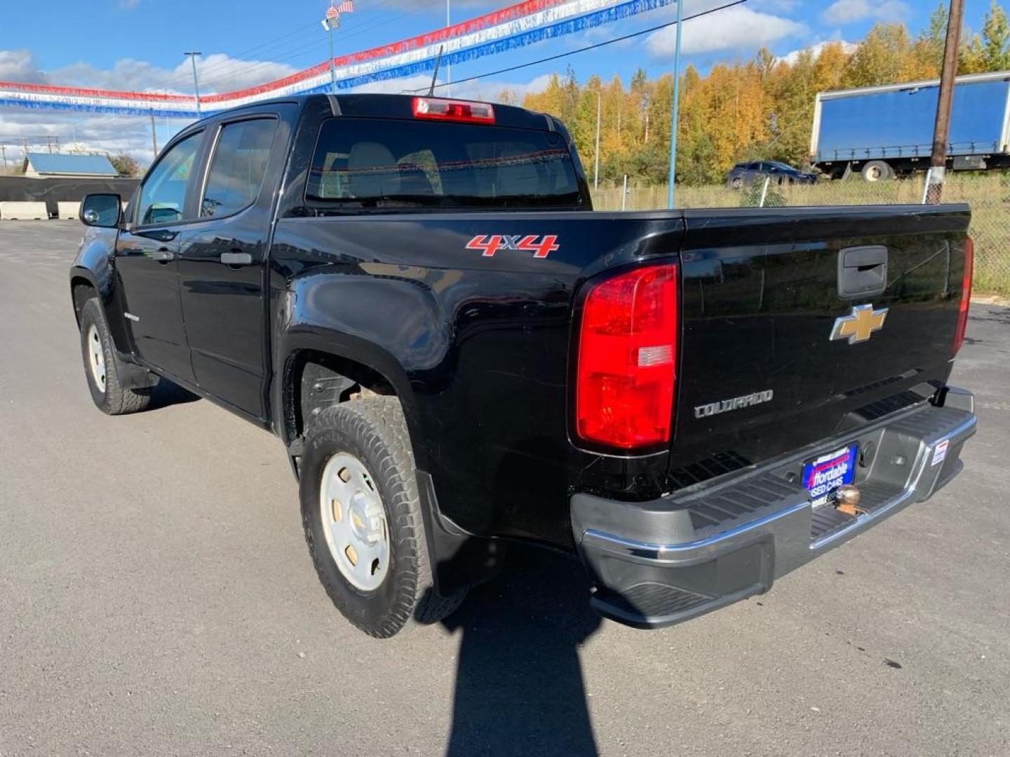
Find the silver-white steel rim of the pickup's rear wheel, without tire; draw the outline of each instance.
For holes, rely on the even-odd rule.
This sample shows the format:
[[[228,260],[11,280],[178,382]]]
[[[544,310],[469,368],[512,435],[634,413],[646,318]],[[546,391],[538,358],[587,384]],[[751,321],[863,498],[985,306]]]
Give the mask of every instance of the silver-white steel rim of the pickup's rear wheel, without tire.
[[[389,572],[386,510],[365,463],[347,452],[326,463],[319,484],[323,532],[340,574],[362,591],[374,591]]]

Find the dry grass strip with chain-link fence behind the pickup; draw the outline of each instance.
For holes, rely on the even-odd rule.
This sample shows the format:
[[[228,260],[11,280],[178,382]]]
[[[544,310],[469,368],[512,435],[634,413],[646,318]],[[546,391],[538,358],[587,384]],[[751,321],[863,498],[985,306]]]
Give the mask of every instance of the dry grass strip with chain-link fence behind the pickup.
[[[677,206],[727,208],[759,205],[894,205],[922,202],[924,176],[891,182],[819,182],[815,185],[755,184],[729,187],[677,187]],[[593,193],[597,210],[620,210],[621,187],[601,187]],[[953,175],[943,188],[944,202],[966,202],[972,208],[970,233],[975,240],[977,294],[1010,295],[1010,175]],[[667,188],[629,185],[624,209],[667,207]]]

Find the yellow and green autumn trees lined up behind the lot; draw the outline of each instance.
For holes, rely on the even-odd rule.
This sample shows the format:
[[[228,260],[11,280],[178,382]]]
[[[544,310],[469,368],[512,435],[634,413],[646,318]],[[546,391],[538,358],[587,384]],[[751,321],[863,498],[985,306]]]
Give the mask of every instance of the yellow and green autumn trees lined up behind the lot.
[[[901,23],[878,23],[856,44],[817,45],[789,60],[766,48],[749,61],[719,64],[704,76],[689,66],[681,79],[677,181],[720,182],[740,160],[809,163],[810,130],[818,92],[939,77],[947,10],[941,2],[915,33]],[[1007,13],[991,0],[981,30],[962,34],[958,74],[1010,70]],[[580,84],[570,67],[547,87],[521,99],[569,127],[590,177],[596,155],[600,102],[600,180],[628,175],[639,184],[667,180],[673,77],[649,79],[638,70],[627,86],[619,77]],[[514,92],[498,101],[517,104]]]

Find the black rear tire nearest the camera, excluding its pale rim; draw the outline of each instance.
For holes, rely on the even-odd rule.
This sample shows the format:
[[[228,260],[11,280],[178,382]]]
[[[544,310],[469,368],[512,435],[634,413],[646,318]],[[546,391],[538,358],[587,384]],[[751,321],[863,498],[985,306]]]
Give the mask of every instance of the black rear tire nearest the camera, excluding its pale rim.
[[[336,609],[362,631],[381,639],[412,622],[427,625],[450,615],[466,591],[443,598],[434,590],[414,455],[400,401],[369,397],[327,408],[316,416],[307,436],[299,475],[302,524],[316,573]],[[323,531],[319,505],[323,470],[339,452],[365,464],[385,510],[389,570],[372,591],[344,578]]]

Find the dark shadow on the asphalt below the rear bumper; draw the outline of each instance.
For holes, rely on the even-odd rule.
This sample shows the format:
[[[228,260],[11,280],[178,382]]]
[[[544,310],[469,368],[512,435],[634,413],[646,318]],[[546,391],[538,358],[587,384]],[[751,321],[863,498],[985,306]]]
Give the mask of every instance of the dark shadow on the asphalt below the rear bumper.
[[[446,755],[598,753],[579,646],[600,619],[577,561],[513,547],[442,623],[463,636]]]

